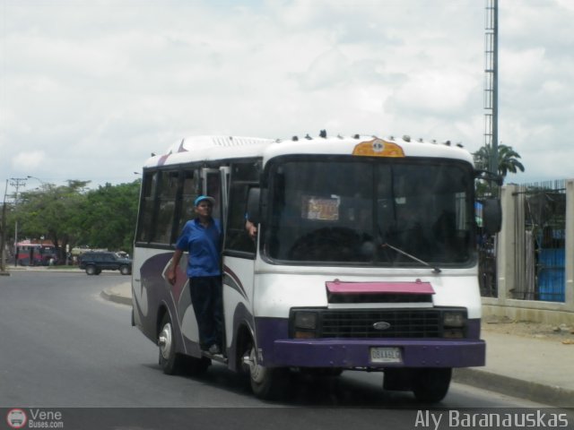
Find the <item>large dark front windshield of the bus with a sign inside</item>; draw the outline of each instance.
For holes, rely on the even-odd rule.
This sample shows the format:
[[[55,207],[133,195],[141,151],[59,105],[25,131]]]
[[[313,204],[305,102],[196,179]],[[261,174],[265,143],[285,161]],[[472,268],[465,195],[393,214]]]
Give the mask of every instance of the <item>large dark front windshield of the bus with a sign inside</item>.
[[[474,262],[474,180],[452,159],[282,159],[263,250],[287,264]]]

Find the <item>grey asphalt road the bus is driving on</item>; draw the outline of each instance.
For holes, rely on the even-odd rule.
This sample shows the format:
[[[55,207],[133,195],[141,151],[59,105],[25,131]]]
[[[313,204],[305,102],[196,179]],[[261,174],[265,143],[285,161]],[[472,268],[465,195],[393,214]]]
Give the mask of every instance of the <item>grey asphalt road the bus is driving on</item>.
[[[381,374],[300,378],[293,399],[281,403],[257,400],[245,378],[217,364],[199,378],[164,375],[156,347],[131,326],[131,308],[100,297],[125,280],[82,271],[0,277],[0,409],[64,411],[68,428],[278,430],[414,428],[428,408],[411,393],[382,391]],[[544,408],[456,383],[439,407]]]

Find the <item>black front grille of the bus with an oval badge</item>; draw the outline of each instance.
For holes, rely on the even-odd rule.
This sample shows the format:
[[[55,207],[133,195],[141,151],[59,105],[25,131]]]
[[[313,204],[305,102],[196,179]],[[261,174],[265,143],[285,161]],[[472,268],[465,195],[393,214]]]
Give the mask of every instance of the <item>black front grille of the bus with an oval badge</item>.
[[[326,311],[321,313],[321,338],[439,338],[441,316],[437,310],[394,309]],[[385,330],[376,323],[388,323]],[[387,324],[384,324],[387,325]]]

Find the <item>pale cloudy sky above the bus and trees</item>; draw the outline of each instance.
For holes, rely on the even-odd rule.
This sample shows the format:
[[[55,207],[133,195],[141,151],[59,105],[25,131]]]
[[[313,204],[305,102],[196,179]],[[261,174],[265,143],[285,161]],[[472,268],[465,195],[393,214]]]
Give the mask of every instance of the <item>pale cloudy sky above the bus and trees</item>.
[[[574,1],[499,3],[499,142],[526,168],[506,182],[572,178]],[[485,5],[0,0],[0,184],[129,183],[195,134],[408,134],[474,152]]]

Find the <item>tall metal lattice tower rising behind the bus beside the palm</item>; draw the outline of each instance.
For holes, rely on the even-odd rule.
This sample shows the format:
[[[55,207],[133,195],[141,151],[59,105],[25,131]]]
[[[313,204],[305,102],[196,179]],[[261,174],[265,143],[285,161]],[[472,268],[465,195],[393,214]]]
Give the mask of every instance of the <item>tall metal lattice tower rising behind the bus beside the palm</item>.
[[[491,150],[488,169],[499,165],[499,2],[486,0],[484,26],[484,144]]]

